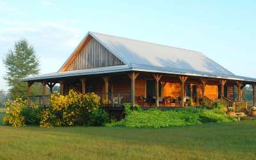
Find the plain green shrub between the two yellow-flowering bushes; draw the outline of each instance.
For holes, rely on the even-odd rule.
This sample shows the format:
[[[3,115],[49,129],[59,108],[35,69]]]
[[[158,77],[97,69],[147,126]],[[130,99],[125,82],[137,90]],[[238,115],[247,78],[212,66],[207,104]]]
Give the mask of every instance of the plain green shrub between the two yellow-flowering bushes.
[[[35,107],[24,107],[20,115],[24,116],[26,125],[38,125],[40,122],[40,109]]]

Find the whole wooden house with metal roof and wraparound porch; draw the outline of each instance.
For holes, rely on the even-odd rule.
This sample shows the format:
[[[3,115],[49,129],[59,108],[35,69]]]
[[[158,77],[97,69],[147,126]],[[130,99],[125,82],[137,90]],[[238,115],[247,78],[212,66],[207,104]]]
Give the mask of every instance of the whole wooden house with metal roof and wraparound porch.
[[[256,79],[236,76],[201,52],[88,32],[58,72],[25,77],[30,86],[43,84],[52,91],[94,92],[110,106],[129,102],[143,107],[198,106],[222,99],[228,106],[243,106],[241,90]],[[237,87],[237,97],[234,98]]]

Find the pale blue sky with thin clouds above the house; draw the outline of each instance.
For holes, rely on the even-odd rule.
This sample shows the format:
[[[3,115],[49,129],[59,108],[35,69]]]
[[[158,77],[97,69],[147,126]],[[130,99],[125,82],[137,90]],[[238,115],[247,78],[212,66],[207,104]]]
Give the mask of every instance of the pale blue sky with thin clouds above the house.
[[[200,51],[256,77],[256,1],[1,1],[0,58],[26,38],[56,72],[88,31]],[[0,90],[7,90],[0,61]]]

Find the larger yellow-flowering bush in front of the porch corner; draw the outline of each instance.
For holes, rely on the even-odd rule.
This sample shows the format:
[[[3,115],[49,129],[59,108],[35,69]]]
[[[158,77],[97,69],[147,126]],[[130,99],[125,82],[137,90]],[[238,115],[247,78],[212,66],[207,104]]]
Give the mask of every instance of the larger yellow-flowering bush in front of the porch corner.
[[[40,127],[87,125],[92,111],[99,108],[99,101],[95,93],[70,90],[68,95],[52,94],[51,106],[42,111]]]

